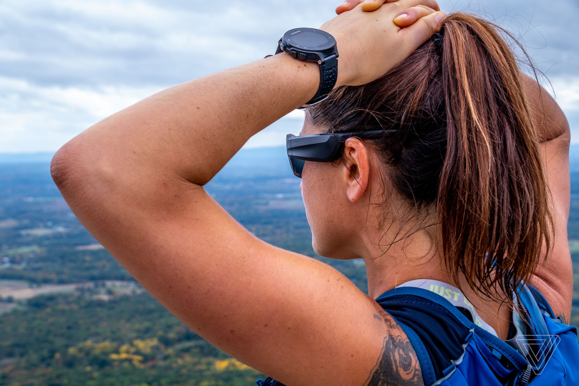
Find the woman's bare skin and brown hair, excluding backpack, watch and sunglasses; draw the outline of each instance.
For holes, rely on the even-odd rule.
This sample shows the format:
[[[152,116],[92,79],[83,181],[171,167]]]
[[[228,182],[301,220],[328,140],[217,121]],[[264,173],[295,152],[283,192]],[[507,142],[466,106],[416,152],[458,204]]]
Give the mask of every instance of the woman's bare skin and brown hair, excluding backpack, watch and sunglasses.
[[[280,53],[179,84],[52,162],[72,211],[160,303],[284,384],[427,383],[411,332],[375,300],[413,280],[452,285],[472,304],[465,317],[500,340],[522,280],[569,320],[565,116],[489,23],[445,17],[434,0],[383,3],[349,0],[320,27],[336,39],[338,80],[301,133],[396,129],[349,137],[338,164],[302,171],[314,251],[363,258],[369,295],[252,236],[203,189],[248,138],[313,97],[316,63]]]

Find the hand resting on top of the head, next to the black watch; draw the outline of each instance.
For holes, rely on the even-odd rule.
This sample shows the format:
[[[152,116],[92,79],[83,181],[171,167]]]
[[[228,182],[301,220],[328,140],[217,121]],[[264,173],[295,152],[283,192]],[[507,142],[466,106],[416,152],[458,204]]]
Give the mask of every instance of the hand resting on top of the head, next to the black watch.
[[[334,36],[338,45],[335,87],[359,86],[380,78],[438,31],[446,16],[438,11],[435,0],[349,0],[338,9],[351,6],[320,27]]]

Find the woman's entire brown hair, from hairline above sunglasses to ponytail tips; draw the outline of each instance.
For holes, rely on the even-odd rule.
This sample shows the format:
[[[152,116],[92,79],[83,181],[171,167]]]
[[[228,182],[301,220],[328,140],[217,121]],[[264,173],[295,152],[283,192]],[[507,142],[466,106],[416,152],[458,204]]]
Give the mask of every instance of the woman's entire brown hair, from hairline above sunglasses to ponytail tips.
[[[511,280],[529,280],[553,237],[538,136],[500,32],[515,41],[487,20],[451,13],[437,39],[389,73],[307,109],[327,132],[398,129],[368,140],[391,187],[415,218],[435,214],[455,284],[463,273],[492,298],[496,285],[510,294]]]

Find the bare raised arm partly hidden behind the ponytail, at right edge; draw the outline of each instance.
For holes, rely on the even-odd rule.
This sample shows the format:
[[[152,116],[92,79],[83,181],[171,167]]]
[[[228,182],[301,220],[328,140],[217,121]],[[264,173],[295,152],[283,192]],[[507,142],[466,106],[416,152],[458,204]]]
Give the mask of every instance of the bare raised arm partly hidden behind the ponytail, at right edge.
[[[538,266],[532,284],[543,293],[556,314],[570,320],[573,265],[567,241],[571,183],[569,177],[569,122],[559,105],[536,80],[523,75],[525,95],[541,141],[541,155],[552,194],[555,220],[554,248]]]

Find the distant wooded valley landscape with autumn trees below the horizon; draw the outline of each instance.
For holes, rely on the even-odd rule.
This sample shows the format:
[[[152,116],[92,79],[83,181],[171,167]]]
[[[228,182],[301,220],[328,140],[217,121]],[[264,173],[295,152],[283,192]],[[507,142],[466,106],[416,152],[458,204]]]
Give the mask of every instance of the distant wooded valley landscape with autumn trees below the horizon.
[[[577,154],[577,161],[574,158]],[[51,153],[0,155],[0,386],[241,386],[264,374],[173,317],[83,228]],[[579,145],[569,241],[579,280]],[[367,292],[364,262],[317,256],[284,147],[241,150],[206,190],[270,244],[320,259]],[[579,292],[572,321],[579,327]]]

